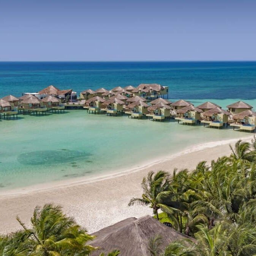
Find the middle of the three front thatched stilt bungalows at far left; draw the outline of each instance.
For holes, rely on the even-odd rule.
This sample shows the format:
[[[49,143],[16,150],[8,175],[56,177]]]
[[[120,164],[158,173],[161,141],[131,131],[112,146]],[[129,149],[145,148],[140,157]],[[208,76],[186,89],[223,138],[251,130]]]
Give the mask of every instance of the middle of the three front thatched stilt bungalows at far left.
[[[38,114],[45,113],[47,111],[47,107],[44,106],[43,102],[40,101],[36,97],[29,97],[26,100],[21,101],[21,108],[19,108],[22,112],[29,112],[29,114]]]

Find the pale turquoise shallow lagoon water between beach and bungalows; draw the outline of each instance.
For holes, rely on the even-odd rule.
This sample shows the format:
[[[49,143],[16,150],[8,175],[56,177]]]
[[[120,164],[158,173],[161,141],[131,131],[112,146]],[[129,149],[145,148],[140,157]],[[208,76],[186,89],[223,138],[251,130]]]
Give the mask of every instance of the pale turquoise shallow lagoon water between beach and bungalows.
[[[255,101],[250,103],[256,106]],[[248,135],[84,110],[19,115],[18,120],[1,119],[0,127],[0,190],[123,171],[195,144]]]

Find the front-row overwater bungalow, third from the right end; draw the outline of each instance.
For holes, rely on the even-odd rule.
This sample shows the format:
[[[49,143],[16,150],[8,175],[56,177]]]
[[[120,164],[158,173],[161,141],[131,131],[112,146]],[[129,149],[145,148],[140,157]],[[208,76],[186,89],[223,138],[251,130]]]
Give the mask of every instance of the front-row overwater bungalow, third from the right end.
[[[178,114],[175,117],[175,120],[178,120],[178,123],[182,121],[182,124],[196,124],[201,120],[201,113],[203,111],[198,107],[194,107],[193,105],[189,105],[183,107],[182,109],[178,109],[176,113]]]

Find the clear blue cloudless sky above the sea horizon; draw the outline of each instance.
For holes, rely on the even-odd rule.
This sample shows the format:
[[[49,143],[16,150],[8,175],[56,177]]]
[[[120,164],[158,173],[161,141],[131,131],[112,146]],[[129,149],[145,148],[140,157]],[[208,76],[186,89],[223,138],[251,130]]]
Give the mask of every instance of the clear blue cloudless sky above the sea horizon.
[[[0,0],[15,60],[256,60],[256,0]]]

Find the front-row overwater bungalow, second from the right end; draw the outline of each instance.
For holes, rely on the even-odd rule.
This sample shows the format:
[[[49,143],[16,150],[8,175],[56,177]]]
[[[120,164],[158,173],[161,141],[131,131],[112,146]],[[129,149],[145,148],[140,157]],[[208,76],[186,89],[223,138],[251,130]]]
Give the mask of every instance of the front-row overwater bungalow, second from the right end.
[[[203,113],[204,119],[201,120],[201,123],[207,124],[210,127],[223,127],[225,124],[228,126],[228,117],[231,115],[228,111],[215,107]]]

